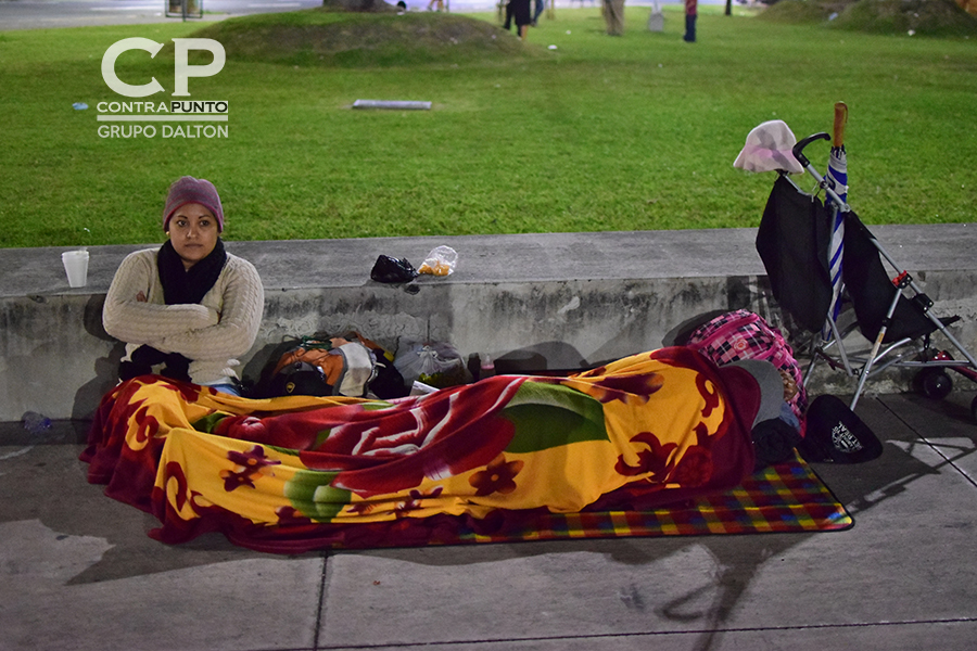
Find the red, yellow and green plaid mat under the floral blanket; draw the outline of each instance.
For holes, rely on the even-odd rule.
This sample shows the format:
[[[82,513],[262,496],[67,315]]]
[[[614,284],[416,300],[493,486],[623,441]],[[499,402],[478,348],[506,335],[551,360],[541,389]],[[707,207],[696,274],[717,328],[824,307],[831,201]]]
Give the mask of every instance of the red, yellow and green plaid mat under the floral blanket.
[[[505,535],[459,532],[455,544],[579,538],[841,531],[854,524],[800,457],[758,472],[727,493],[652,511],[554,513]]]

